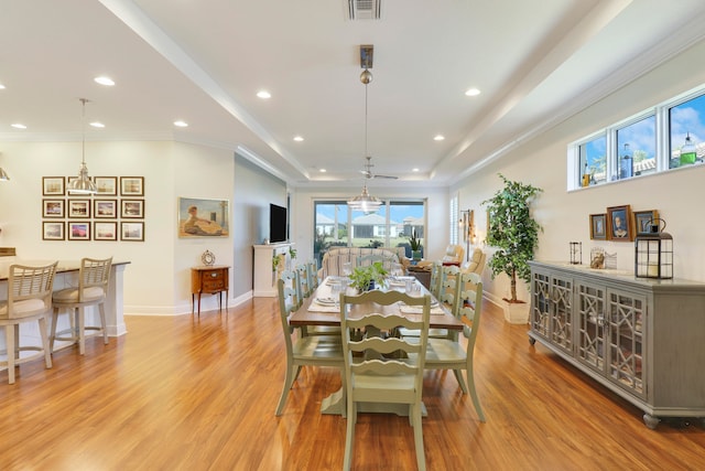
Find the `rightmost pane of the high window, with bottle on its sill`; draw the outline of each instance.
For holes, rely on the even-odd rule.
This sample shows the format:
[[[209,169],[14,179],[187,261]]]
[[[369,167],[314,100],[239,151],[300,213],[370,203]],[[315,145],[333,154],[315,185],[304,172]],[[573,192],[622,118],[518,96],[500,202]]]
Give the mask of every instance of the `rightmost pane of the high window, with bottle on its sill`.
[[[669,169],[702,163],[705,154],[705,95],[669,109]]]

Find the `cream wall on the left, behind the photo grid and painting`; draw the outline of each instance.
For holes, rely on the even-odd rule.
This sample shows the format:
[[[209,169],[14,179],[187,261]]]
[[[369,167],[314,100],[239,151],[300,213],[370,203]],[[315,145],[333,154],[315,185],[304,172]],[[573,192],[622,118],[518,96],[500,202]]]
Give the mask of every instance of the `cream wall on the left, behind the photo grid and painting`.
[[[231,151],[177,142],[87,142],[91,176],[144,176],[144,242],[42,239],[42,176],[73,176],[80,142],[0,142],[0,165],[11,181],[0,184],[0,246],[17,247],[24,260],[84,256],[129,260],[126,313],[191,312],[189,267],[209,249],[218,264],[232,265],[232,236],[178,239],[178,196],[232,197]],[[203,309],[217,307],[205,297]]]

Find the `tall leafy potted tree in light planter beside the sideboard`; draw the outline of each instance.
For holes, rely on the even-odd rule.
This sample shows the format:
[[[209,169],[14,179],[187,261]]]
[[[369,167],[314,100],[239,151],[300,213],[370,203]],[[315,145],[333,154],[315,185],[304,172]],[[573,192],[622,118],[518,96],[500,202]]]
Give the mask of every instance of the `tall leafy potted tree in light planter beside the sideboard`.
[[[541,225],[531,216],[531,202],[542,190],[530,184],[507,180],[505,186],[482,202],[489,214],[487,244],[496,251],[488,261],[492,279],[506,274],[510,280],[511,298],[505,298],[505,319],[511,323],[529,321],[529,304],[517,299],[517,279],[531,282],[529,260],[539,245]]]

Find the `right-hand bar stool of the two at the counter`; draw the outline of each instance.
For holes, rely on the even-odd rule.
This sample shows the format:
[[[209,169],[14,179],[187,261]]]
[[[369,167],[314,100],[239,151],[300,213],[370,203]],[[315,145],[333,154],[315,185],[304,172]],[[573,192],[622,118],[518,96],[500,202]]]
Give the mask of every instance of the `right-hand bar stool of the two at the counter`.
[[[78,271],[78,288],[66,288],[54,293],[54,315],[52,319],[51,349],[54,351],[54,341],[63,340],[72,343],[78,342],[78,353],[86,351],[86,331],[101,331],[102,343],[108,344],[106,330],[106,293],[110,280],[110,267],[112,257],[106,259],[83,258]],[[85,309],[88,306],[97,306],[100,313],[100,327],[86,327]],[[62,309],[68,309],[70,329],[56,332],[58,313]],[[67,335],[68,334],[68,335]],[[62,336],[59,336],[62,335]]]

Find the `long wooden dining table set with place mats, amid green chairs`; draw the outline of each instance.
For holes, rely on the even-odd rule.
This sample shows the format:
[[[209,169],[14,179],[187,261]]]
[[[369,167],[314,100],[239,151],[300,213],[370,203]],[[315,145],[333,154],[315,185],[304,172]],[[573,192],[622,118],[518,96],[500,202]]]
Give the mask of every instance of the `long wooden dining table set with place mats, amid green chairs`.
[[[410,296],[431,295],[430,291],[414,277],[390,277],[383,286],[378,287],[382,290],[406,291]],[[303,300],[302,306],[289,318],[289,324],[293,328],[305,328],[311,325],[340,327],[340,306],[339,293],[345,290],[346,295],[355,295],[356,289],[347,285],[346,277],[328,276],[318,285],[314,292]],[[447,329],[449,331],[462,331],[463,321],[455,318],[447,306],[438,302],[431,295],[431,318],[430,329]],[[349,318],[360,318],[370,312],[379,312],[387,314],[401,314],[411,320],[421,320],[421,307],[405,304],[357,304],[350,309]],[[340,374],[345,374],[340,372]],[[344,400],[343,387],[326,397],[321,404],[322,414],[344,415],[346,405]],[[426,415],[423,407],[423,415]],[[402,404],[378,404],[361,403],[358,405],[360,413],[393,413],[399,416],[409,415],[408,407]]]

